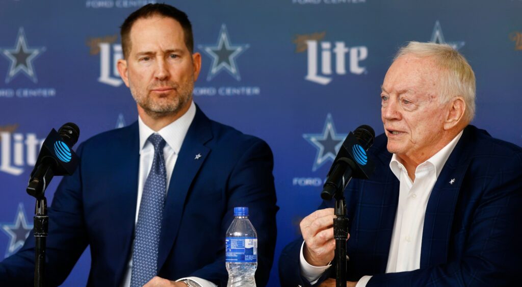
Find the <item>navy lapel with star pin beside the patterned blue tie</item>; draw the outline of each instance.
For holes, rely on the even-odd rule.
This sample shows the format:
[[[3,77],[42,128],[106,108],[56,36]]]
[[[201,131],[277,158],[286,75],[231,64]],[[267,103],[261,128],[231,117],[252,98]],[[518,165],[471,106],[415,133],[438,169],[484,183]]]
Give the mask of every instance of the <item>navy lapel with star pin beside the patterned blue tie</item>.
[[[206,147],[205,143],[211,138],[210,120],[197,107],[194,120],[183,140],[180,154],[177,156],[169,184],[161,224],[158,270],[161,270],[176,241],[185,199],[196,174],[210,152],[210,148]]]

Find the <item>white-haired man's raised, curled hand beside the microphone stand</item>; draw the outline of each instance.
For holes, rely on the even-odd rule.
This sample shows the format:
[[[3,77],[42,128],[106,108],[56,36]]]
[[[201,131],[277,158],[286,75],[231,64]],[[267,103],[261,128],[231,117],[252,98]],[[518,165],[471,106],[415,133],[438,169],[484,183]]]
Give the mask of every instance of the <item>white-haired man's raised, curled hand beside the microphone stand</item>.
[[[299,224],[305,245],[303,256],[312,266],[326,266],[334,259],[334,209],[313,212]]]

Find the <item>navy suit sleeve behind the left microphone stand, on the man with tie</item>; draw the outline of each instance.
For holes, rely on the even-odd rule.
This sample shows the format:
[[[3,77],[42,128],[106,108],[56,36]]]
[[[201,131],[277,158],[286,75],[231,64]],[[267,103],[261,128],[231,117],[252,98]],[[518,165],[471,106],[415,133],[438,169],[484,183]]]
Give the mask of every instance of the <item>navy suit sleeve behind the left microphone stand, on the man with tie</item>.
[[[77,154],[81,158],[82,147]],[[81,164],[80,164],[81,165]],[[45,285],[58,286],[67,278],[87,247],[81,205],[81,166],[72,176],[63,177],[48,208],[49,235],[46,240]],[[23,247],[0,263],[4,286],[33,286],[34,237],[29,234]]]

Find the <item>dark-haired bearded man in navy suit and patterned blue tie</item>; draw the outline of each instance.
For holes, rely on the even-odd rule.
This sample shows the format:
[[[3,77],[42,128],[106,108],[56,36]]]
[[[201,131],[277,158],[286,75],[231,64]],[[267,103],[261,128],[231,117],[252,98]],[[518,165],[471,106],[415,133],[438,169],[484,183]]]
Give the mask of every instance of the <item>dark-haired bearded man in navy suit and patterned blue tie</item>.
[[[194,104],[201,57],[185,13],[146,5],[121,33],[118,71],[139,119],[78,148],[81,163],[49,208],[46,285],[60,285],[89,245],[89,286],[224,286],[224,237],[238,206],[250,208],[256,281],[266,285],[278,209],[270,148]],[[33,270],[28,240],[0,264],[0,285],[32,285]]]

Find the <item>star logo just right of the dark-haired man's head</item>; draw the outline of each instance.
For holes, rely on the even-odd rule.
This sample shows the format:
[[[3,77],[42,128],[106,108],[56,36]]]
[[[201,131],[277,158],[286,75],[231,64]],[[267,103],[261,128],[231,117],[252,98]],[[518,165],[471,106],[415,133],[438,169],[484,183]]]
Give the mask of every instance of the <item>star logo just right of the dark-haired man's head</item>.
[[[235,60],[241,53],[246,51],[248,47],[250,47],[248,44],[232,45],[227,32],[227,26],[224,24],[221,25],[221,31],[219,31],[216,45],[198,45],[200,50],[203,50],[212,58],[212,66],[208,72],[207,81],[210,81],[222,70],[226,70],[236,80],[241,80],[238,65],[235,63]]]

